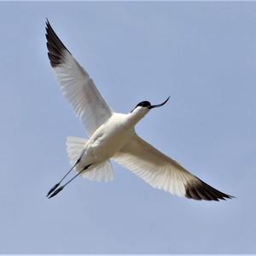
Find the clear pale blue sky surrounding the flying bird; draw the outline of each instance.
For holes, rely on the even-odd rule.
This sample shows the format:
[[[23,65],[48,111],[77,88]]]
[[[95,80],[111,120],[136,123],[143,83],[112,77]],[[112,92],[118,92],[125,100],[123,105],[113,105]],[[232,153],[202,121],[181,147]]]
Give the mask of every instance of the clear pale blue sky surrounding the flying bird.
[[[116,111],[171,96],[137,133],[236,199],[172,196],[113,164],[113,182],[48,200],[66,137],[86,133],[46,17]],[[256,3],[0,3],[0,31],[0,253],[256,253]]]

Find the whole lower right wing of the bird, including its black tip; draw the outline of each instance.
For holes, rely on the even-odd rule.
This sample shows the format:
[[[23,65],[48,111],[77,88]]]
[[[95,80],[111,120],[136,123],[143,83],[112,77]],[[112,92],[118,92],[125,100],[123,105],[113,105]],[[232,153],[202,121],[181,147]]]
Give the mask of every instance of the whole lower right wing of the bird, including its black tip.
[[[142,177],[154,188],[164,189],[174,195],[208,201],[232,197],[204,183],[136,134],[114,155],[113,160]]]

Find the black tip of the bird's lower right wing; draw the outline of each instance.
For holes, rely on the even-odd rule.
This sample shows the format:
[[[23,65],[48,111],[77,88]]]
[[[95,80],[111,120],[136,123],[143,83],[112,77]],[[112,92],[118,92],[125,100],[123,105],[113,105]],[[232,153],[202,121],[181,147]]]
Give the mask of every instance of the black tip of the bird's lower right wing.
[[[195,200],[219,201],[235,198],[233,195],[227,195],[218,189],[212,188],[207,183],[197,179],[196,182],[186,185],[186,197]]]

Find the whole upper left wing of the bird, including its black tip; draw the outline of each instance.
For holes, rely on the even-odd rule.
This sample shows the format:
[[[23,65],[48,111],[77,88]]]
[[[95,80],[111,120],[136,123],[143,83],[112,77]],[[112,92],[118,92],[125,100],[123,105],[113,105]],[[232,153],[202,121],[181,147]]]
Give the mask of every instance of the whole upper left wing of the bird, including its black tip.
[[[109,119],[113,111],[96,89],[89,74],[62,44],[48,20],[46,38],[50,65],[61,84],[61,90],[91,135],[97,127]]]

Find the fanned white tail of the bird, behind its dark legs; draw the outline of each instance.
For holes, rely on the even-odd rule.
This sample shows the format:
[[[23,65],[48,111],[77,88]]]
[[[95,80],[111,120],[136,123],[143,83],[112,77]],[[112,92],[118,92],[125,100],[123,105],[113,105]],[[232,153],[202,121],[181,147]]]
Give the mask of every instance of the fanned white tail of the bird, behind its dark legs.
[[[86,142],[87,140],[82,137],[67,137],[67,155],[71,165],[79,159]],[[94,168],[90,169],[88,172],[84,172],[82,176],[93,181],[108,182],[113,180],[113,168],[110,161],[107,160],[97,166],[94,166]]]

